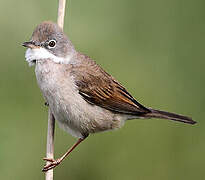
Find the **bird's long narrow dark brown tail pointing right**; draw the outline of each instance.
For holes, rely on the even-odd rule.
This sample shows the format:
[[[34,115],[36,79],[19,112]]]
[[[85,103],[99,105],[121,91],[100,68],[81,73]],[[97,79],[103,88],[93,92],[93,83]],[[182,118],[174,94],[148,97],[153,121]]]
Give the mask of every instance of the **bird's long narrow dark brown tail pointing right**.
[[[179,121],[183,123],[188,123],[188,124],[195,124],[196,121],[193,121],[192,118],[187,117],[187,116],[182,116],[179,114],[175,113],[170,113],[166,111],[160,111],[160,110],[155,110],[149,108],[151,112],[147,113],[144,115],[146,118],[160,118],[160,119],[169,119],[169,120],[174,120],[174,121]]]

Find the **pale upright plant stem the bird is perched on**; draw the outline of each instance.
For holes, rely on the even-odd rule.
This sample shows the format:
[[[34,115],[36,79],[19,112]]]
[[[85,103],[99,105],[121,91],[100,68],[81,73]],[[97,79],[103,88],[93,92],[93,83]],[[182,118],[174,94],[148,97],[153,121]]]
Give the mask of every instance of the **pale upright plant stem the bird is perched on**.
[[[62,29],[64,25],[65,4],[66,4],[66,0],[59,0],[57,24]],[[54,130],[55,130],[55,118],[49,108],[46,157],[52,159],[54,158]],[[50,169],[45,173],[45,180],[53,180],[53,169]]]

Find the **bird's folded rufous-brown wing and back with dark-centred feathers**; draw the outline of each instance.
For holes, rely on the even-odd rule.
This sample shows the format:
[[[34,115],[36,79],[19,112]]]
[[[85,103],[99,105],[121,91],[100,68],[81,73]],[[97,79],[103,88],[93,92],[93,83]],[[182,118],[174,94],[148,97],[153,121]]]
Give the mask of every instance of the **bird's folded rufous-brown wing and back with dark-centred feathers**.
[[[88,103],[117,113],[140,115],[150,112],[93,60],[84,58],[80,65],[73,66],[72,74],[79,94]]]

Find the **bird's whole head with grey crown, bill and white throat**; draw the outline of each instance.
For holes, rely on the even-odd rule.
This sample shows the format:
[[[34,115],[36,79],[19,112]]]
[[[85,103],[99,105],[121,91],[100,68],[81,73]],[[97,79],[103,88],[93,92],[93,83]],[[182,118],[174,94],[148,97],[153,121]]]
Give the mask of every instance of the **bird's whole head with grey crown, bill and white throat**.
[[[51,21],[40,23],[35,28],[31,40],[22,45],[28,48],[25,56],[29,63],[35,63],[35,60],[46,58],[62,61],[62,58],[71,57],[75,53],[71,41],[62,29]],[[58,58],[61,58],[61,60]]]

